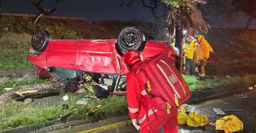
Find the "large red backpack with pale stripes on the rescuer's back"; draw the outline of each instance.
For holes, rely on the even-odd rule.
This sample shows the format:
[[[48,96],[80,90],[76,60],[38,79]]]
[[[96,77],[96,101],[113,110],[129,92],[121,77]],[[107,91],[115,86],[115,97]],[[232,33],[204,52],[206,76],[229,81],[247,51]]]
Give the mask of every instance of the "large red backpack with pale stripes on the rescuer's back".
[[[152,108],[170,113],[191,97],[189,87],[172,59],[160,53],[146,59],[136,71],[141,87],[151,97]]]

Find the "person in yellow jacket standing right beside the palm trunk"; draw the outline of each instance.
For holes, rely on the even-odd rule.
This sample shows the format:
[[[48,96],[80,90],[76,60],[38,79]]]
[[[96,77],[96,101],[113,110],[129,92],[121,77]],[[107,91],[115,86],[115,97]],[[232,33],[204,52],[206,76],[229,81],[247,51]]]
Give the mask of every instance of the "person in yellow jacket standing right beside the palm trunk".
[[[184,44],[184,55],[186,57],[186,71],[189,75],[194,74],[195,66],[193,63],[194,52],[196,48],[195,39],[193,36],[188,38],[189,43]]]

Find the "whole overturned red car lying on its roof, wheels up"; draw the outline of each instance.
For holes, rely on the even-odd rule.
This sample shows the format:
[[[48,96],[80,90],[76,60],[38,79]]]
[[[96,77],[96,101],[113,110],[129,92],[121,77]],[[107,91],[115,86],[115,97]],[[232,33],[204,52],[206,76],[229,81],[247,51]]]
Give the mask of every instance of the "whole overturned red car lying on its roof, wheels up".
[[[179,50],[168,41],[145,36],[136,27],[125,27],[117,39],[51,39],[49,32],[40,30],[33,34],[31,45],[28,60],[36,66],[38,76],[49,74],[61,80],[86,73],[100,74],[98,77],[112,78],[112,92],[129,73],[122,58],[127,50],[138,50],[143,60],[165,53],[173,65],[179,56]]]

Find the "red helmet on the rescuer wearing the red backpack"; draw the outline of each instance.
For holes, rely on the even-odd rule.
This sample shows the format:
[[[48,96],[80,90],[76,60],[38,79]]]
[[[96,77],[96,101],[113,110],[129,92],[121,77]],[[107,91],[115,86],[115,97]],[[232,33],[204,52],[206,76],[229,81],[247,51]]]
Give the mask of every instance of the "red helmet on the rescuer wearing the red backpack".
[[[134,63],[141,61],[140,52],[137,50],[129,50],[124,54],[124,62],[129,66],[132,66]]]

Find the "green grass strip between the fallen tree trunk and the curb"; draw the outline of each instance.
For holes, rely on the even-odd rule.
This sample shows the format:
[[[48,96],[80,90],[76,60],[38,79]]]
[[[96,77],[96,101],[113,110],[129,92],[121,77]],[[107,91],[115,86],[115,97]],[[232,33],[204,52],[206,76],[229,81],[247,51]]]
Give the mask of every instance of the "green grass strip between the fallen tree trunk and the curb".
[[[62,96],[62,95],[61,95]],[[109,97],[108,99],[102,99],[100,101],[93,100],[88,105],[76,105],[76,102],[84,97],[84,95],[68,94],[68,101],[57,101],[55,105],[49,107],[34,107],[32,104],[24,104],[24,102],[12,101],[6,104],[3,108],[0,108],[0,130],[12,129],[24,125],[32,125],[49,120],[54,120],[61,113],[65,113],[76,108],[76,111],[72,115],[81,115],[83,118],[89,121],[89,117],[86,116],[86,110],[94,108],[104,102],[108,102],[106,106],[103,106],[93,117],[99,118],[102,114],[109,114],[113,111],[124,111],[127,108],[126,97],[116,96]],[[68,104],[69,108],[62,109],[62,104]]]

